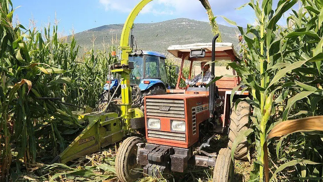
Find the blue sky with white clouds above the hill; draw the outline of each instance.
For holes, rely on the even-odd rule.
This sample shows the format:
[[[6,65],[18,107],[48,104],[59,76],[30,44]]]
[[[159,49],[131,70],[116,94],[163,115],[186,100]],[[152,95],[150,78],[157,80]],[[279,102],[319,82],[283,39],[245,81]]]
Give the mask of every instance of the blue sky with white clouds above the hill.
[[[277,2],[278,0],[274,0]],[[109,24],[124,23],[131,9],[139,0],[15,0],[14,7],[19,22],[28,27],[33,16],[37,27],[54,22],[68,35],[72,27],[76,33]],[[209,0],[214,15],[223,15],[243,27],[254,22],[250,7],[235,10],[249,0]],[[208,21],[205,9],[198,0],[154,0],[136,18],[135,23],[160,22],[174,18]],[[227,25],[223,19],[219,24]]]

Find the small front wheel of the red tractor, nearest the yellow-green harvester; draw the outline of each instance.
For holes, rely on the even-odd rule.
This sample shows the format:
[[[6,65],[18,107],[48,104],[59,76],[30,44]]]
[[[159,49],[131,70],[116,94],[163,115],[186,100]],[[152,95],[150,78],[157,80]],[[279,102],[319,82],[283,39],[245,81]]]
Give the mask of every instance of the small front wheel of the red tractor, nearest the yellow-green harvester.
[[[139,137],[129,137],[120,145],[116,155],[116,173],[117,177],[122,182],[134,182],[142,177],[142,173],[138,172],[141,168],[137,164],[137,144],[143,143]]]

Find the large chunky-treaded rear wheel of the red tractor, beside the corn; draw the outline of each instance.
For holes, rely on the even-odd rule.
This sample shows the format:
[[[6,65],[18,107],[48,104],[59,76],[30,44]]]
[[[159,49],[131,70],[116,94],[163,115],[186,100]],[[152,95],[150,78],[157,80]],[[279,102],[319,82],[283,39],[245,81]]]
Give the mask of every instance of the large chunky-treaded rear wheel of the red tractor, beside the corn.
[[[232,149],[232,144],[238,134],[249,128],[250,104],[245,101],[239,102],[235,110],[234,104],[231,107],[230,126],[229,126],[229,148]],[[234,158],[237,160],[248,159],[248,141],[245,137],[234,151]]]

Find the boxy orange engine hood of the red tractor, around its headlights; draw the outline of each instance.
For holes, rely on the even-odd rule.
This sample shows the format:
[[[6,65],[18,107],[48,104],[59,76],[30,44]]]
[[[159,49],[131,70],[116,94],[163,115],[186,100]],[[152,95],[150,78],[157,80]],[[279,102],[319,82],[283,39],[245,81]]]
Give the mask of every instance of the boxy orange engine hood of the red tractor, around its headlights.
[[[199,124],[209,119],[209,97],[204,93],[145,97],[148,143],[188,148],[199,138]],[[149,119],[159,119],[159,129],[149,128]],[[185,122],[185,131],[172,130],[172,122]]]

